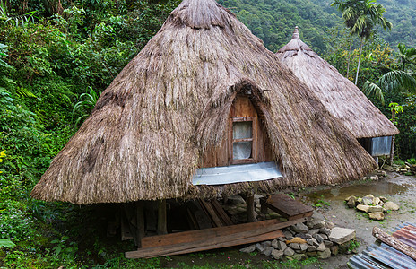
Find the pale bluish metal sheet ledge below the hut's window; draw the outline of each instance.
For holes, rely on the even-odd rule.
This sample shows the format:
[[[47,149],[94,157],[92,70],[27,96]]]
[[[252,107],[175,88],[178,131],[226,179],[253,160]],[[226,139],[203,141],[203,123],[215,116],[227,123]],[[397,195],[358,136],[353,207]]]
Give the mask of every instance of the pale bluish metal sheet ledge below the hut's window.
[[[274,161],[196,169],[193,185],[223,185],[282,178]]]

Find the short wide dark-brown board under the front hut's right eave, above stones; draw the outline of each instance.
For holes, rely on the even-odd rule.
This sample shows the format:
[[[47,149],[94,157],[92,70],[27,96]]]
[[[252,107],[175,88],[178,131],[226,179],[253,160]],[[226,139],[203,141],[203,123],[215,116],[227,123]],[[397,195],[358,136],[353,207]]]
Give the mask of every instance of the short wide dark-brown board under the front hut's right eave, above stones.
[[[283,194],[269,196],[264,205],[285,218],[310,216],[314,211],[311,206],[302,204]]]

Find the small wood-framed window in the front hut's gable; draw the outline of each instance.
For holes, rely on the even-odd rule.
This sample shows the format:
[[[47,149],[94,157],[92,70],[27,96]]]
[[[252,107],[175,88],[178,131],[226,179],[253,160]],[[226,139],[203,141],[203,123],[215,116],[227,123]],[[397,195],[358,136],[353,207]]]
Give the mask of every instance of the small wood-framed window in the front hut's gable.
[[[232,117],[231,163],[254,162],[254,117]]]

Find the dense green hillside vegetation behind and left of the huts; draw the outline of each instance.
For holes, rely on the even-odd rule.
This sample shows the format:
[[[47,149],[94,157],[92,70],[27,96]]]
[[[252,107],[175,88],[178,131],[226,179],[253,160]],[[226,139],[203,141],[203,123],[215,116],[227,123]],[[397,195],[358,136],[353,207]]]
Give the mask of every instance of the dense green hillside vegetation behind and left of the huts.
[[[176,257],[126,260],[123,253],[134,249],[133,243],[106,239],[106,232],[98,228],[105,227],[98,214],[100,205],[79,207],[30,198],[32,187],[50,161],[91,114],[100,92],[160,29],[179,2],[0,0],[0,267],[209,268],[210,265],[195,267]],[[281,48],[298,25],[302,39],[342,74],[347,74],[348,58],[349,72],[357,72],[360,39],[351,39],[342,25],[341,14],[330,6],[332,1],[219,2],[236,13],[267,48]],[[362,88],[367,81],[378,85],[386,104],[377,100],[377,95],[369,97],[386,116],[392,113],[390,103],[396,104],[394,109],[403,108],[394,117],[401,131],[396,137],[396,156],[415,163],[413,88],[393,91],[382,82],[389,72],[414,77],[414,8],[411,0],[379,2],[385,4],[386,18],[394,28],[390,33],[376,34],[363,45],[358,85]],[[394,52],[392,48],[397,43],[403,45]],[[317,204],[329,206],[322,199]],[[212,256],[204,254],[204,258]],[[199,259],[202,255],[194,257]],[[215,258],[218,257],[227,255],[217,253]],[[239,261],[230,263],[235,268],[263,265],[248,258],[254,260],[257,256],[247,256],[244,265]],[[229,268],[225,262],[229,261],[218,267]],[[305,263],[316,261],[270,262],[264,267],[298,268],[308,265]]]

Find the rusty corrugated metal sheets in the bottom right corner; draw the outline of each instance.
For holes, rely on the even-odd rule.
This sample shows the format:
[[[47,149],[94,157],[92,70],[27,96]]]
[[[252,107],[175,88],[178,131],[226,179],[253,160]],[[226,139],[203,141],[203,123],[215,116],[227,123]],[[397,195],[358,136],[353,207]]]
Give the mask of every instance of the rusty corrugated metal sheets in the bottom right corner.
[[[416,244],[416,225],[412,223],[403,223],[394,230],[393,236],[405,244],[413,247]],[[403,252],[390,247],[385,243],[373,244],[367,247],[362,253],[352,256],[348,261],[350,268],[403,268],[415,269],[416,261]]]

